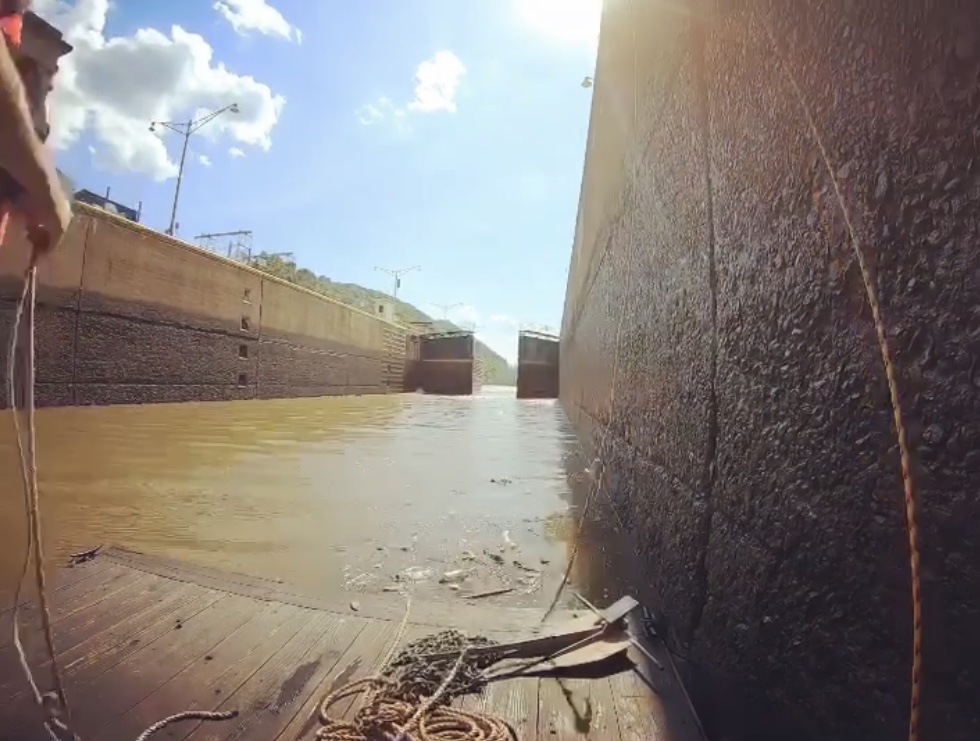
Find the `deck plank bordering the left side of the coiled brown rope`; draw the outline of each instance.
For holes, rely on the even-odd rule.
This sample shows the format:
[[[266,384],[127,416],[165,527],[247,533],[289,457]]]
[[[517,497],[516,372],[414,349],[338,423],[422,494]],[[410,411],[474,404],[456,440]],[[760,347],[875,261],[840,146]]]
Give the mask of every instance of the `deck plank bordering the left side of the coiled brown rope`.
[[[380,662],[391,650],[398,625],[387,620],[365,620],[364,629],[350,645],[337,664],[322,676],[318,676],[313,692],[303,701],[292,719],[276,736],[263,741],[294,741],[308,739],[319,727],[317,711],[324,697],[349,682],[375,674]],[[336,717],[344,717],[354,699],[339,702],[331,709]]]

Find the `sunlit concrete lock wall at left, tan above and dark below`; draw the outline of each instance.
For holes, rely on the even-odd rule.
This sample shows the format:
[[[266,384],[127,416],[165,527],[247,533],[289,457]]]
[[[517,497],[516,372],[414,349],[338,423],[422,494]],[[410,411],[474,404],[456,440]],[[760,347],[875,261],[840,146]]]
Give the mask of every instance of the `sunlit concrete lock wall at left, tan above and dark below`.
[[[39,404],[401,390],[405,332],[396,325],[99,209],[75,209],[39,270]],[[0,249],[4,348],[28,255],[18,232]]]

